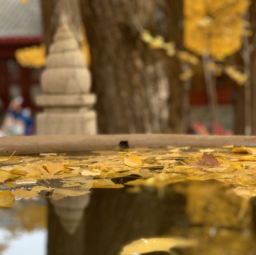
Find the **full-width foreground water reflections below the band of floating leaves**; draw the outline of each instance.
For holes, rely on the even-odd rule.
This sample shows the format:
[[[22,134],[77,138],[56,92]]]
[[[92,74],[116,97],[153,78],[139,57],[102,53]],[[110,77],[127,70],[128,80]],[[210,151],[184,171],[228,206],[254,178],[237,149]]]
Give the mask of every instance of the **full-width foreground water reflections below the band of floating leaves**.
[[[130,243],[132,253],[123,254],[136,254],[144,249],[136,247],[141,243],[135,241],[141,238],[172,238],[169,248],[174,247],[170,251],[177,255],[256,252],[254,200],[236,195],[230,184],[216,180],[169,184],[164,196],[152,187],[142,187],[139,193],[98,188],[90,194],[49,201],[48,255],[119,255]],[[9,237],[23,240],[23,245],[17,243],[19,254],[30,254],[27,241],[30,249],[42,251],[43,235],[37,235],[36,229],[45,229],[46,205],[42,198],[21,199],[14,207],[0,210],[2,245],[12,249],[6,248],[3,254],[16,254],[10,253],[15,243]],[[191,246],[190,240],[197,245]],[[182,245],[176,245],[179,242]],[[157,247],[159,251],[146,253],[155,250],[147,246],[143,254],[168,254],[168,243]]]

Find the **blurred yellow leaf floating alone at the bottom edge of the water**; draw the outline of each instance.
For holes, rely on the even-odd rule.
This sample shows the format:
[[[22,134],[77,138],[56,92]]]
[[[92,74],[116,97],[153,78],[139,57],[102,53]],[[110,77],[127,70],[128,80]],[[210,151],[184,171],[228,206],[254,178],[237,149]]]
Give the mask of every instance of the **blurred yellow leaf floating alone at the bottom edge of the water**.
[[[169,252],[170,249],[180,247],[191,247],[195,246],[196,241],[180,238],[180,237],[170,237],[170,238],[142,238],[132,243],[124,246],[120,255],[133,255],[141,253],[150,253],[154,251],[166,251]]]

